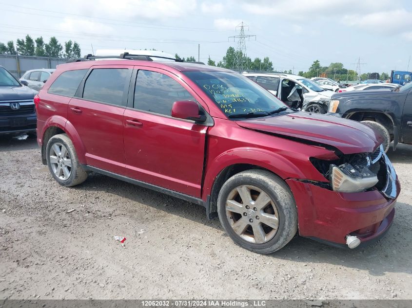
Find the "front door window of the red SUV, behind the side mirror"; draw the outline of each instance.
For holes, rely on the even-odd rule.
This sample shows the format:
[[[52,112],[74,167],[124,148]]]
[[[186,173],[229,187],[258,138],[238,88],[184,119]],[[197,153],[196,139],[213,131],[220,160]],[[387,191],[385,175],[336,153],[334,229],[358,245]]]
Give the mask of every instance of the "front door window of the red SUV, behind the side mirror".
[[[136,78],[133,107],[139,110],[171,115],[176,101],[196,99],[173,78],[159,73],[139,70]]]

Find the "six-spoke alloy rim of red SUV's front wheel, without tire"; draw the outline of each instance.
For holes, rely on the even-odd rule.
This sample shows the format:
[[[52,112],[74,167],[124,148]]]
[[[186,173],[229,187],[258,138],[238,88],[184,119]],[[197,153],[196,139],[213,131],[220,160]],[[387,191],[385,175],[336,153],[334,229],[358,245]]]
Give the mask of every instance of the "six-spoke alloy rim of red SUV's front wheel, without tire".
[[[231,191],[226,199],[226,217],[238,236],[255,244],[270,241],[279,228],[274,201],[252,185],[241,185]]]

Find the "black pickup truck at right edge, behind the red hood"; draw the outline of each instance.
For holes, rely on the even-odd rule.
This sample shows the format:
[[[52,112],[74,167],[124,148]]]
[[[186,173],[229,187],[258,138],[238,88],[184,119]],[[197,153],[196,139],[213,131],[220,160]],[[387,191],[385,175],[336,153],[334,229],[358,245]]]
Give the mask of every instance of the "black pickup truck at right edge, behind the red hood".
[[[348,91],[332,95],[328,114],[362,122],[385,138],[383,147],[412,144],[412,82],[393,90]]]

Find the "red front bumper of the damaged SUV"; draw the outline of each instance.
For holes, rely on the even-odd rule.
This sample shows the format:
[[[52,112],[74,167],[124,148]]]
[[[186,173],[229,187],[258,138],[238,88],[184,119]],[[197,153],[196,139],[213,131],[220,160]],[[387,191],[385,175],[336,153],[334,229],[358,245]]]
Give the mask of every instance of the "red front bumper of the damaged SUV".
[[[346,235],[358,236],[361,245],[383,236],[391,227],[400,185],[396,177],[395,198],[378,190],[338,193],[307,182],[286,181],[294,194],[299,235],[345,245]]]

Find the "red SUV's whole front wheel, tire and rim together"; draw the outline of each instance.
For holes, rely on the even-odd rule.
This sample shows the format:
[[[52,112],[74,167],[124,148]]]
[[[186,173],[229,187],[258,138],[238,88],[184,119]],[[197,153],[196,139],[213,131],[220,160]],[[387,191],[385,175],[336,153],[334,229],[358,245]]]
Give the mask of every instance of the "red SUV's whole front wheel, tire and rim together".
[[[266,170],[247,170],[227,180],[217,197],[220,223],[232,240],[258,254],[285,246],[297,232],[289,186]]]

